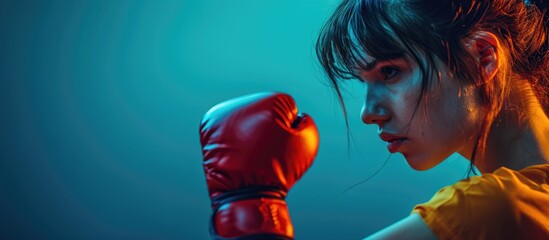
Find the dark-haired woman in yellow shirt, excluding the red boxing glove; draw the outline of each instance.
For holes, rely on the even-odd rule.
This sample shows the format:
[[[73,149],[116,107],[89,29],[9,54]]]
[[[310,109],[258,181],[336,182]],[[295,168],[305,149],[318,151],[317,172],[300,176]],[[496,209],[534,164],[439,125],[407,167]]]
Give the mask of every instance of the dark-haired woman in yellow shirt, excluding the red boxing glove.
[[[543,11],[517,0],[338,7],[317,53],[340,99],[338,80],[361,81],[362,120],[377,124],[389,151],[412,168],[430,169],[458,152],[482,173],[373,237],[549,239]]]

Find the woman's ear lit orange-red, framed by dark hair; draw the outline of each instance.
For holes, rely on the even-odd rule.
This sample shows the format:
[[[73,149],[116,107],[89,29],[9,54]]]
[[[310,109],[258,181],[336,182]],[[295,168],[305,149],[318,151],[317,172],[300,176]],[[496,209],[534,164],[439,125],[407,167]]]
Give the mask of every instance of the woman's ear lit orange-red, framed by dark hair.
[[[484,78],[483,83],[491,81],[499,69],[500,43],[498,38],[490,32],[474,32],[467,38],[465,46],[479,63]]]

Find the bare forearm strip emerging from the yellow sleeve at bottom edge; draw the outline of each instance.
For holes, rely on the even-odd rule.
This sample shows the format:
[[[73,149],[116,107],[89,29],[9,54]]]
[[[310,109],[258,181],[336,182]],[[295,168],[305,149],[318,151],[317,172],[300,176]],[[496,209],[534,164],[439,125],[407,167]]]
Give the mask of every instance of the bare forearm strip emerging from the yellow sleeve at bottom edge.
[[[437,239],[423,219],[413,213],[365,239]]]

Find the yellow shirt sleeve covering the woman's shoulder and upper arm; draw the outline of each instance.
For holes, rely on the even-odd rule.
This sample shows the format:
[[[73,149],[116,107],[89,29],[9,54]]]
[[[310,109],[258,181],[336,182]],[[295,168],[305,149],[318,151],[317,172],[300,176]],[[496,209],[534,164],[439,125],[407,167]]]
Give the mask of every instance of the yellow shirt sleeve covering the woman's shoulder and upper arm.
[[[493,174],[475,176],[438,191],[419,214],[439,239],[520,239],[517,186]]]

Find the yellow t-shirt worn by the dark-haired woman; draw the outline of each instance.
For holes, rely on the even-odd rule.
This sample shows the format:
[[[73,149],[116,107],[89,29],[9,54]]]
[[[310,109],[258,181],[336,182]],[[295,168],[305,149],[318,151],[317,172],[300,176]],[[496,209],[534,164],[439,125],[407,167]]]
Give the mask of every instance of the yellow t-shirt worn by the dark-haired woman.
[[[549,164],[459,181],[412,213],[439,239],[549,239]]]

